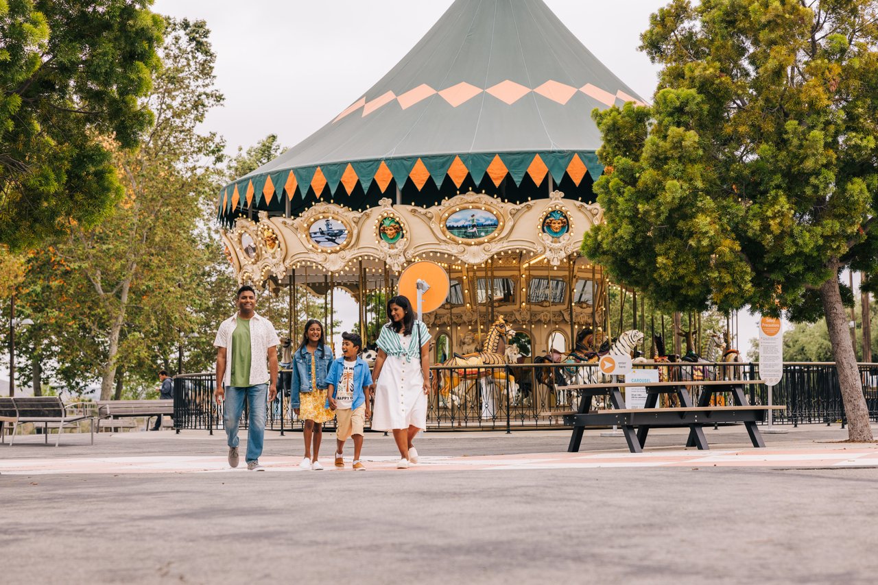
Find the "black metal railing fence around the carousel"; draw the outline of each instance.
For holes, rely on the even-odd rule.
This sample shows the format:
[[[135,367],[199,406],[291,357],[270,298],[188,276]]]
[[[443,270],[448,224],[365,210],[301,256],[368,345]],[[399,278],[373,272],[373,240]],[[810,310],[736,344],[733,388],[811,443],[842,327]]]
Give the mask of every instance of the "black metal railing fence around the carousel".
[[[662,380],[759,380],[759,365],[739,363],[635,364],[638,369],[659,369]],[[432,390],[428,394],[427,425],[430,430],[521,430],[567,428],[551,410],[574,408],[576,392],[556,391],[556,385],[601,382],[597,364],[546,363],[501,366],[430,368]],[[860,381],[869,417],[878,421],[878,364],[860,364]],[[223,428],[222,407],[213,401],[212,373],[184,374],[174,378],[174,425],[176,429]],[[691,387],[693,397],[699,392]],[[787,410],[774,414],[774,424],[845,423],[835,364],[788,362],[781,382],[772,389],[772,403]],[[767,404],[768,389],[749,387],[752,404]],[[718,395],[719,403],[731,403]],[[247,417],[241,417],[247,424]],[[332,423],[327,424],[332,427]],[[302,421],[290,409],[289,375],[278,381],[277,399],[270,403],[266,428],[283,434],[299,430]]]

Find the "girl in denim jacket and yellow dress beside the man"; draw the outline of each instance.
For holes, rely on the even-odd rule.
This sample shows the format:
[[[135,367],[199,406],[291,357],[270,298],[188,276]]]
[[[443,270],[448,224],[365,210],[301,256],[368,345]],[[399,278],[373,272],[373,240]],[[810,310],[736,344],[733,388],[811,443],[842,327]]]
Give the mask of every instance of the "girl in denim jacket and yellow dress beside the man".
[[[323,325],[317,319],[305,324],[302,343],[292,355],[292,383],[290,402],[292,411],[305,420],[305,457],[299,463],[302,469],[320,471],[320,439],[323,423],[332,420],[335,413],[324,407],[327,402],[326,377],[329,364],[335,356],[326,345]],[[312,448],[313,447],[313,448]]]

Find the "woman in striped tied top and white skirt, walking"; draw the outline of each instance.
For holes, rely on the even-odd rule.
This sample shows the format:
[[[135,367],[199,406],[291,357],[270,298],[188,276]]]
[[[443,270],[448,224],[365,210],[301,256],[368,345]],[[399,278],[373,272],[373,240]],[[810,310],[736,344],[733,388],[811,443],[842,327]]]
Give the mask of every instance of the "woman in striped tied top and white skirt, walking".
[[[393,432],[400,457],[396,467],[406,469],[418,462],[412,439],[427,428],[430,333],[427,325],[415,320],[412,303],[405,296],[387,302],[387,317],[390,323],[378,334],[372,375],[372,430]]]

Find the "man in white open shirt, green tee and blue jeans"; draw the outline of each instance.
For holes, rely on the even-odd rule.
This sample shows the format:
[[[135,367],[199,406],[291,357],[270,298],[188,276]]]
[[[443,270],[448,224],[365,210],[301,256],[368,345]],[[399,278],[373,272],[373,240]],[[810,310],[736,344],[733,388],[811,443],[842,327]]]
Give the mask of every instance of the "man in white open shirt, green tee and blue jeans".
[[[259,455],[263,453],[266,405],[277,396],[279,340],[274,325],[255,312],[253,287],[245,284],[238,289],[237,307],[238,312],[219,325],[213,341],[217,348],[217,386],[213,396],[218,404],[226,401],[223,422],[228,437],[228,464],[238,467],[238,423],[247,400],[247,468],[265,471],[259,465]]]

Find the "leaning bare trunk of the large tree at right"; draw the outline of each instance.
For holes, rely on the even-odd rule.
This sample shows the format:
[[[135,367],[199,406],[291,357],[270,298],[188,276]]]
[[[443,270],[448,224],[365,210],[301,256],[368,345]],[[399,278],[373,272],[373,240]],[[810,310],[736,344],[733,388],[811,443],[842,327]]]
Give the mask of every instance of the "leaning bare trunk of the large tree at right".
[[[869,411],[866,397],[860,385],[860,370],[857,368],[857,357],[853,353],[851,338],[847,327],[845,306],[841,303],[841,292],[838,289],[838,275],[823,283],[820,287],[820,298],[826,314],[826,327],[832,344],[832,355],[838,371],[838,386],[841,388],[841,400],[845,406],[847,417],[847,437],[852,441],[871,441],[872,429],[869,427]]]

